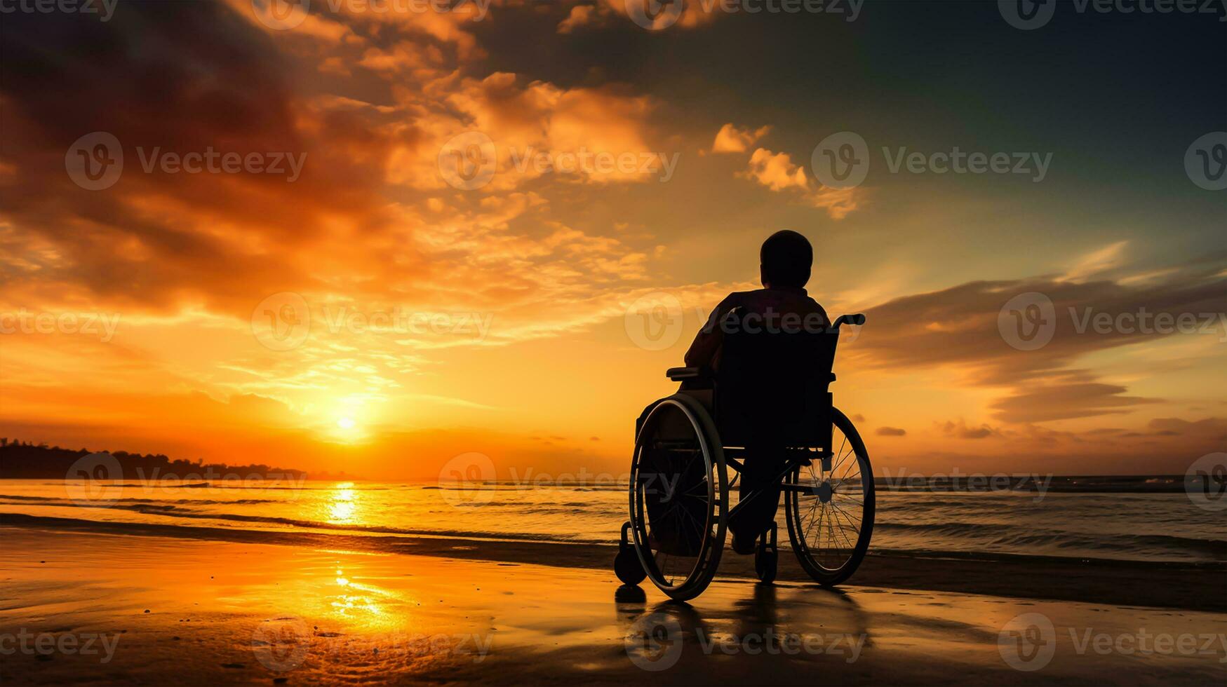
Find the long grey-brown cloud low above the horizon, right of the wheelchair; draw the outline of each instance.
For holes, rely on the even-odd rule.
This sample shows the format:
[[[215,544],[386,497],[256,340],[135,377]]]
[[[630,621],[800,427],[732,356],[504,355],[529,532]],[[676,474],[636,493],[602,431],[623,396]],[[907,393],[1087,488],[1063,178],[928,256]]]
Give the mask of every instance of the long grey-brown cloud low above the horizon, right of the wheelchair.
[[[1087,369],[1072,368],[1081,356],[1118,346],[1156,341],[1172,331],[1130,331],[1082,326],[1087,314],[1126,324],[1137,313],[1173,319],[1196,318],[1196,336],[1227,335],[1222,320],[1204,315],[1227,313],[1227,254],[1200,258],[1173,270],[1162,281],[1076,283],[1055,277],[1020,281],[978,281],[942,291],[907,296],[869,310],[870,324],[847,355],[856,364],[881,369],[960,366],[984,386],[1011,389],[993,404],[1004,422],[1043,422],[1128,412],[1161,399],[1140,397],[1107,384]],[[1002,305],[1021,293],[1052,299],[1056,323],[1052,341],[1034,351],[1010,346],[999,330]],[[1202,330],[1206,331],[1202,331]]]

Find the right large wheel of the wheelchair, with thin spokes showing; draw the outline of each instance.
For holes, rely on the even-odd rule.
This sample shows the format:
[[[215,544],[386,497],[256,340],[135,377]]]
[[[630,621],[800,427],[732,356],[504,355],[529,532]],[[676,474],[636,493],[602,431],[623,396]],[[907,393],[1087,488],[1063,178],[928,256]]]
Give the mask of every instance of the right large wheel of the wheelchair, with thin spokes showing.
[[[784,480],[788,537],[801,567],[818,584],[847,580],[874,534],[874,471],[852,421],[832,409],[829,459],[815,459]]]

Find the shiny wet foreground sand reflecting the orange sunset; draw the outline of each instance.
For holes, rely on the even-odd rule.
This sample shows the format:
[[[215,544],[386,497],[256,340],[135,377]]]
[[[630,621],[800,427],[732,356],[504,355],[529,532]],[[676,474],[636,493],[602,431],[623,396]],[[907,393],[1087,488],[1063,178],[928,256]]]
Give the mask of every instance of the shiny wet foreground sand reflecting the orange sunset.
[[[11,526],[0,539],[4,685],[1227,680],[1227,615],[1205,611],[728,578],[686,605],[607,570],[526,562]],[[1038,644],[1018,643],[1037,623]],[[1139,634],[1196,648],[1129,651]]]

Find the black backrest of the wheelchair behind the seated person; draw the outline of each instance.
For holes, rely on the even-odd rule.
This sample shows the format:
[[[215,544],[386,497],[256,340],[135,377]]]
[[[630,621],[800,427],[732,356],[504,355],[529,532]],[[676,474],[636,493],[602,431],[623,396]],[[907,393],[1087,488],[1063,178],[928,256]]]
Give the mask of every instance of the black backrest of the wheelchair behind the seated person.
[[[736,309],[721,324],[714,401],[721,443],[829,450],[838,330],[746,314]]]

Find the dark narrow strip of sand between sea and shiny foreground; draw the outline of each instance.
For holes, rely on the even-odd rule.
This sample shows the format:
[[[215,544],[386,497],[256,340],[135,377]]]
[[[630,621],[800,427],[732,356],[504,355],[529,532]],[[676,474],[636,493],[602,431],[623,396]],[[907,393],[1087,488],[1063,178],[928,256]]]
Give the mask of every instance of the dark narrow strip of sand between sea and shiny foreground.
[[[363,536],[306,531],[253,531],[236,528],[104,523],[0,513],[0,528],[45,528],[56,531],[124,534],[298,547],[342,547],[416,556],[442,556],[504,563],[545,563],[609,570],[616,547],[545,541],[494,541],[453,537]],[[611,540],[616,537],[611,535]],[[1225,552],[1227,555],[1227,552]],[[725,550],[720,575],[753,579],[753,558]],[[807,583],[791,552],[779,557],[780,581]],[[956,553],[892,555],[870,551],[853,580],[863,586],[990,594],[1097,604],[1160,606],[1227,612],[1227,564],[1104,561],[1039,556]]]

